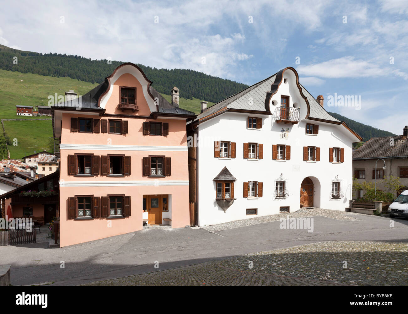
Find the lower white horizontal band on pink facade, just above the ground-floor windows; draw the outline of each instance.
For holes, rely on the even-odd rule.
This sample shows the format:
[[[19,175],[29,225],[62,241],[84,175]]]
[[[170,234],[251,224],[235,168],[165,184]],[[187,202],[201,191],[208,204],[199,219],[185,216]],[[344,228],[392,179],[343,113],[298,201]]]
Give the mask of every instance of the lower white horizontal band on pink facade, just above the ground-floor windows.
[[[140,187],[140,186],[169,186],[188,185],[187,181],[58,181],[60,187]]]

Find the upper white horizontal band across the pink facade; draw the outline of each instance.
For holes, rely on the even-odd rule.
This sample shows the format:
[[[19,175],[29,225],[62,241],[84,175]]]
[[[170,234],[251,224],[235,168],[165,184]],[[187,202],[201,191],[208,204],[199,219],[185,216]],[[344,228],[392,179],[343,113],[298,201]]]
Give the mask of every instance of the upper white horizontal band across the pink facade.
[[[73,150],[123,150],[123,151],[187,151],[187,146],[141,146],[141,145],[87,145],[60,144],[60,149]]]

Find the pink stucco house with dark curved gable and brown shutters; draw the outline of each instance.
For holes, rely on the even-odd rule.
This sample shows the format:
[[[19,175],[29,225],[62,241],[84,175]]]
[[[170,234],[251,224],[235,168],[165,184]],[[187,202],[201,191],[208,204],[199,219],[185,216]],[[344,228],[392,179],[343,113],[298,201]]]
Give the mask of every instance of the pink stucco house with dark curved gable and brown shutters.
[[[60,246],[190,224],[186,122],[133,63],[52,107],[60,138]],[[177,95],[178,100],[178,95]]]

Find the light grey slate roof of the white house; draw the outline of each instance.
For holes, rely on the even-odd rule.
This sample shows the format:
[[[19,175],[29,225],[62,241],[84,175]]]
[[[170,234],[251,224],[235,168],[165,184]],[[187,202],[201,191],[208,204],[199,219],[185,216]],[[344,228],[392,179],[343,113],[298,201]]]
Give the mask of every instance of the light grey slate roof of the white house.
[[[282,70],[281,70],[282,71]],[[279,72],[278,72],[279,73]],[[266,111],[265,109],[265,98],[266,93],[271,90],[271,85],[275,82],[277,73],[273,76],[266,78],[254,85],[247,87],[246,89],[240,91],[239,93],[230,96],[215,105],[209,107],[203,113],[199,114],[195,120],[199,120],[206,116],[209,116],[220,109],[227,107],[231,109],[244,109],[244,110],[256,110],[256,111]],[[310,105],[310,118],[319,118],[329,121],[340,122],[336,118],[330,116],[326,110],[317,102],[317,100],[299,83],[303,94],[308,99]],[[251,100],[251,101],[250,101]]]

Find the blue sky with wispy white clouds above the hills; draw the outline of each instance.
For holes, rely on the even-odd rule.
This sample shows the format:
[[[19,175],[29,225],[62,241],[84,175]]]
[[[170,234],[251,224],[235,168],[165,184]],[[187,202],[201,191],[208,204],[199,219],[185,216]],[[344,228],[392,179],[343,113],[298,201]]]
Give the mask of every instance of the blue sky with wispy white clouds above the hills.
[[[328,111],[402,134],[407,18],[406,0],[9,1],[0,44],[194,69],[248,85],[292,66]],[[335,93],[361,96],[361,109],[328,107]]]

